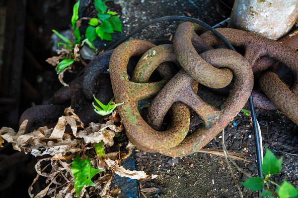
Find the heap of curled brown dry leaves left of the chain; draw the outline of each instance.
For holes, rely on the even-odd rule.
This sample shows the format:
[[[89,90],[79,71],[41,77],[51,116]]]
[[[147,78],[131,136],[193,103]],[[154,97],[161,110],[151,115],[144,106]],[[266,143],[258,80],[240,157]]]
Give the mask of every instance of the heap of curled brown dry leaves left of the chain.
[[[121,189],[110,186],[114,174],[139,180],[157,177],[121,166],[134,149],[130,142],[126,146],[128,152],[106,152],[114,146],[115,135],[124,129],[117,111],[113,111],[106,123],[91,122],[86,128],[74,109],[65,108],[64,112],[54,128],[44,126],[25,134],[28,120],[24,120],[18,132],[9,127],[0,129],[0,147],[5,140],[15,150],[43,157],[35,165],[37,175],[28,189],[31,198],[118,198]],[[70,125],[71,133],[66,133],[67,125]],[[40,176],[46,177],[47,187],[34,195],[34,184]]]

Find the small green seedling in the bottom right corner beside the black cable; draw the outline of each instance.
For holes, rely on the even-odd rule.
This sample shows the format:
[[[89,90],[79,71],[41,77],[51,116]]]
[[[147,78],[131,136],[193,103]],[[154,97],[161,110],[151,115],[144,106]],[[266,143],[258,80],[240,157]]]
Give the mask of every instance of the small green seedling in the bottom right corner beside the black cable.
[[[282,163],[283,157],[277,159],[273,152],[266,148],[266,155],[264,156],[262,164],[262,172],[265,175],[265,179],[261,177],[248,178],[243,185],[252,191],[265,189],[265,191],[261,193],[261,196],[269,196],[269,198],[274,198],[273,196],[279,198],[297,198],[298,189],[292,186],[289,182],[284,181],[282,185],[278,185],[269,180],[270,175],[279,174],[281,172]],[[276,191],[269,189],[268,182],[277,186]]]

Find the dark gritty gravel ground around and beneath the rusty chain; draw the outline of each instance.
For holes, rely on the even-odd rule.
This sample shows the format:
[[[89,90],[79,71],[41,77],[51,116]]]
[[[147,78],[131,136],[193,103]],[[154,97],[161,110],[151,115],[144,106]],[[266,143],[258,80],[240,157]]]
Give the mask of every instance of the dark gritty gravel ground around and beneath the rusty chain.
[[[228,16],[228,8],[220,6],[222,12],[218,12],[218,1],[192,1],[192,0],[118,0],[122,6],[121,19],[124,23],[124,33],[129,34],[137,27],[154,18],[167,15],[182,15],[198,18],[209,25],[215,25],[224,18],[223,10]],[[153,24],[135,35],[132,39],[166,39],[171,40],[180,21],[165,21]],[[200,95],[200,93],[199,93]],[[201,92],[203,99],[213,98]],[[213,98],[215,103],[221,103],[224,99]],[[248,109],[248,107],[246,107]],[[287,179],[295,186],[298,185],[298,137],[297,126],[282,113],[256,109],[257,118],[261,126],[263,136],[263,148],[268,147],[277,156],[284,157],[283,170],[278,176],[273,177],[277,183]],[[238,114],[225,129],[225,145],[232,152],[245,153],[249,162],[237,161],[238,165],[250,173],[257,174],[255,141],[250,118],[242,112]],[[205,148],[217,148],[221,150],[221,136],[212,140]],[[290,153],[290,154],[289,154]],[[293,154],[291,154],[293,153]],[[136,167],[149,174],[159,175],[149,182],[140,182],[140,188],[155,187],[159,190],[152,193],[141,193],[141,197],[147,198],[237,198],[238,190],[230,176],[230,172],[220,156],[194,153],[187,157],[172,158],[159,153],[144,153],[136,151]],[[239,181],[247,178],[237,171],[232,171]],[[246,198],[258,197],[239,184]]]

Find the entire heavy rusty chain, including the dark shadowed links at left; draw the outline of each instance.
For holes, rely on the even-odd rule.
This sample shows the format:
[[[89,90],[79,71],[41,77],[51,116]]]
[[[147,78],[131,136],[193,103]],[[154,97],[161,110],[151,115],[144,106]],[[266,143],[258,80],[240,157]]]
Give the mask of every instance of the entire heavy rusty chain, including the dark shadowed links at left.
[[[31,120],[32,126],[34,122],[51,125],[61,114],[56,109],[62,109],[63,103],[71,101],[74,108],[77,106],[78,115],[85,124],[94,121],[97,115],[89,102],[93,94],[98,94],[103,101],[112,97],[111,84],[108,76],[103,73],[110,63],[116,102],[125,102],[118,109],[127,135],[134,145],[149,152],[184,156],[204,147],[245,105],[252,91],[252,73],[259,79],[260,88],[268,97],[252,91],[256,106],[280,109],[298,124],[297,34],[287,35],[276,42],[241,30],[218,28],[217,31],[228,42],[245,49],[243,57],[228,49],[217,49],[226,46],[210,31],[200,36],[196,34],[201,30],[191,22],[183,22],[178,27],[173,45],[160,45],[155,40],[130,41],[114,51],[106,51],[92,60],[83,75],[70,83],[70,87],[56,92],[50,101],[56,105],[38,105],[27,109],[21,120]],[[133,56],[142,57],[129,80],[127,70],[133,68],[129,61]],[[283,62],[294,74],[295,83],[290,88],[275,73],[268,72],[271,68],[278,68],[277,61]],[[177,67],[174,69],[169,62]],[[177,68],[180,71],[176,74]],[[149,82],[154,70],[162,80]],[[228,95],[221,109],[198,97],[198,83]],[[138,111],[138,102],[148,98],[153,101],[146,122]],[[204,127],[187,135],[190,125],[189,107],[199,114]],[[172,113],[171,124],[165,131],[160,131],[162,120],[169,109]],[[51,113],[52,117],[47,121],[39,118],[44,112]]]

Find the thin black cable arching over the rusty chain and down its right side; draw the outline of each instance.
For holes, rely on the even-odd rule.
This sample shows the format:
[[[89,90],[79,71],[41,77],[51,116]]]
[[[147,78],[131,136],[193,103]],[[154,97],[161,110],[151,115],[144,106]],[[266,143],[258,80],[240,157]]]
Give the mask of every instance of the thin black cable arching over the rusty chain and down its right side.
[[[185,20],[185,21],[190,21],[190,22],[199,24],[199,25],[205,27],[206,29],[210,30],[211,32],[213,32],[216,36],[218,36],[229,49],[236,51],[234,49],[234,47],[224,38],[224,36],[221,33],[219,33],[217,30],[215,30],[213,27],[211,27],[210,25],[208,25],[208,24],[206,24],[206,23],[204,23],[204,22],[202,22],[198,19],[190,18],[190,17],[186,17],[186,16],[164,16],[164,17],[160,17],[160,18],[154,19],[152,21],[149,21],[148,23],[146,23],[146,24],[140,26],[139,28],[137,28],[136,30],[134,30],[129,35],[123,37],[120,41],[118,41],[116,44],[114,44],[112,47],[110,47],[107,50],[117,48],[120,44],[125,42],[127,39],[129,39],[130,37],[132,37],[133,35],[135,35],[139,31],[141,31],[144,28],[148,27],[149,25],[151,25],[153,23],[156,23],[156,22],[159,22],[159,21],[165,21],[165,20]],[[257,126],[256,114],[255,114],[255,111],[254,111],[254,104],[253,104],[253,99],[252,99],[251,94],[250,94],[250,97],[249,97],[249,105],[250,105],[253,128],[254,128],[254,132],[255,132],[258,174],[259,174],[260,177],[263,177],[262,168],[261,168],[261,165],[262,165],[261,149],[263,149],[263,148],[260,148],[259,130],[258,130],[258,126]]]

